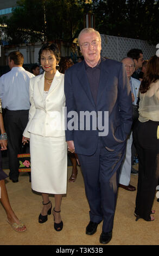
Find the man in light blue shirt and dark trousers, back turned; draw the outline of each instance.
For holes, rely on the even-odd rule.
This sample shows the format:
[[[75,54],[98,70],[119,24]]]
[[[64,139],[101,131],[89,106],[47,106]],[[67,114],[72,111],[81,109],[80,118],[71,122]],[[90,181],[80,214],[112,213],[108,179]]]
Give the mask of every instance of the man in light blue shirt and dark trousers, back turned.
[[[8,135],[9,178],[12,182],[18,182],[17,154],[21,153],[22,134],[28,123],[29,81],[34,77],[22,67],[23,62],[21,52],[10,52],[8,65],[11,70],[0,77],[0,98],[5,109],[4,120]]]

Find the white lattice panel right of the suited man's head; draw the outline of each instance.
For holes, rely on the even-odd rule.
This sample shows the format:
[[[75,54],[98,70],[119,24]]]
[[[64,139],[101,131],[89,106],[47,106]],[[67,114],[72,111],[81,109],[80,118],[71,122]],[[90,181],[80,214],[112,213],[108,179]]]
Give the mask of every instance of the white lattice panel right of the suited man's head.
[[[127,52],[132,48],[141,49],[144,59],[155,55],[157,50],[156,45],[149,45],[147,41],[110,35],[101,35],[101,47],[101,56],[118,61],[126,57]]]

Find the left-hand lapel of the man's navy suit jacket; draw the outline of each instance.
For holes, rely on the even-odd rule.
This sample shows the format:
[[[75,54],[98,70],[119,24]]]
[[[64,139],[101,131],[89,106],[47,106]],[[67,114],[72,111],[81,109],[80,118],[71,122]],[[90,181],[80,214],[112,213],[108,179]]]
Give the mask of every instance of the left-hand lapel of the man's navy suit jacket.
[[[92,97],[91,88],[90,88],[90,84],[88,82],[84,62],[81,63],[81,66],[78,69],[78,79],[80,81],[82,88],[85,90],[85,93],[87,94],[88,99],[92,102],[93,106],[96,107],[96,104],[94,103],[94,100]]]

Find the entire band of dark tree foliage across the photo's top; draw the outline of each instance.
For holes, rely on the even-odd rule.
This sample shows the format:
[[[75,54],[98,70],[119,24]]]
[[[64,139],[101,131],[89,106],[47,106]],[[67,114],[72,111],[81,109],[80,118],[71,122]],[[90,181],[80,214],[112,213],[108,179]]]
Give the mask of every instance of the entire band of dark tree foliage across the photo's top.
[[[159,42],[159,0],[19,0],[2,31],[10,43],[72,42],[93,12],[101,34]]]

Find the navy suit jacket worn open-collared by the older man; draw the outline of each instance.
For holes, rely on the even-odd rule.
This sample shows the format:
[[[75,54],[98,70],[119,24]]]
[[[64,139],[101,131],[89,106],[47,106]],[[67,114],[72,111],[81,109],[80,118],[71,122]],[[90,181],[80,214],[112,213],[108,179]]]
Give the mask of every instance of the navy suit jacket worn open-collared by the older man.
[[[99,130],[94,130],[92,119],[89,130],[86,130],[85,122],[82,124],[84,129],[80,130],[82,120],[79,114],[85,111],[100,112],[103,117],[104,111],[109,111],[109,133],[101,137],[104,146],[109,151],[116,151],[125,145],[132,124],[132,99],[130,84],[122,63],[111,59],[101,61],[97,105],[92,97],[84,61],[66,70],[64,88],[67,124],[73,118],[71,115],[69,117],[68,113],[78,113],[78,118],[72,119],[76,129],[65,131],[66,141],[74,141],[76,153],[92,155],[97,148]]]

